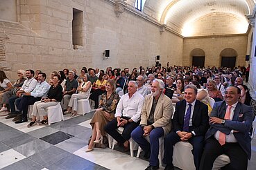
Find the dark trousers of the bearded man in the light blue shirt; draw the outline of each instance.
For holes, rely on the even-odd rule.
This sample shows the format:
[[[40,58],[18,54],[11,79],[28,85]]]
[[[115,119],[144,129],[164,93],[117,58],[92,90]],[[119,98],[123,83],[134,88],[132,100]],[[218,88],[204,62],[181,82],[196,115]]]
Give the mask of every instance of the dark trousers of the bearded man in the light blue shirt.
[[[28,105],[34,104],[40,101],[42,97],[33,97],[31,95],[24,95],[19,104],[17,105],[17,110],[22,112],[22,119],[26,120],[28,115]]]

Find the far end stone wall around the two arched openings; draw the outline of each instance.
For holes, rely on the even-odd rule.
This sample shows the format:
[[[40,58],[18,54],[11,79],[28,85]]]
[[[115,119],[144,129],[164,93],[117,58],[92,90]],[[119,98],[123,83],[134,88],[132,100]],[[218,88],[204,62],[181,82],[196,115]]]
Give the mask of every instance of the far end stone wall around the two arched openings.
[[[195,48],[205,52],[205,67],[221,66],[221,51],[225,48],[233,48],[237,51],[236,66],[246,66],[245,56],[248,35],[228,35],[221,37],[191,37],[184,39],[183,65],[191,65],[190,53]]]

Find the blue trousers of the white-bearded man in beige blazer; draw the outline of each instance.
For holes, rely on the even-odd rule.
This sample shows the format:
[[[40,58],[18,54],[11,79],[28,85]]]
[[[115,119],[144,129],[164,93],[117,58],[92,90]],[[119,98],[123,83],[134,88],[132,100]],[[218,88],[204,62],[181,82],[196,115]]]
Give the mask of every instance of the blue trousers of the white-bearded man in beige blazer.
[[[143,151],[151,151],[149,164],[151,166],[157,166],[159,164],[159,138],[164,135],[164,129],[162,129],[162,127],[153,129],[151,133],[149,133],[150,143],[144,138],[143,134],[144,131],[142,126],[137,126],[137,128],[132,132],[132,138],[137,142],[137,144],[139,144],[139,147],[141,147]]]

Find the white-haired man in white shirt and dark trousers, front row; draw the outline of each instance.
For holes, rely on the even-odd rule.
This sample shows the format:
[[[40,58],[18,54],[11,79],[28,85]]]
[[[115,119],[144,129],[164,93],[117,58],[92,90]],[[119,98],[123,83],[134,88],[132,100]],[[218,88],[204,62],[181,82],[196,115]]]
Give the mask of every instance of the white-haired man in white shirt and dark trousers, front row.
[[[109,122],[105,127],[105,131],[117,142],[123,144],[128,150],[130,133],[139,126],[140,114],[144,102],[144,97],[137,92],[138,84],[130,81],[128,84],[128,93],[123,95],[117,104],[117,110],[114,117],[117,119]],[[123,134],[117,132],[117,128],[123,127]]]

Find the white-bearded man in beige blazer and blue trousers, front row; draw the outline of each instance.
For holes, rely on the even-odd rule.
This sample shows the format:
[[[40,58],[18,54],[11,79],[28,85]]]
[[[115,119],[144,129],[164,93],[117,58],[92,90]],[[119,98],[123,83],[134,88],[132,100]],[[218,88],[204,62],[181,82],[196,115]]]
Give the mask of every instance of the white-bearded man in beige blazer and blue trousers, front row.
[[[146,157],[150,155],[146,170],[159,169],[159,138],[171,131],[173,105],[169,97],[163,94],[164,82],[154,79],[151,94],[146,95],[142,107],[140,126],[132,132],[132,138],[143,149]],[[144,138],[149,135],[150,143]]]

